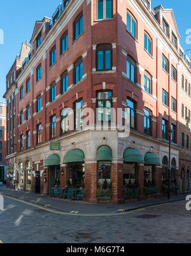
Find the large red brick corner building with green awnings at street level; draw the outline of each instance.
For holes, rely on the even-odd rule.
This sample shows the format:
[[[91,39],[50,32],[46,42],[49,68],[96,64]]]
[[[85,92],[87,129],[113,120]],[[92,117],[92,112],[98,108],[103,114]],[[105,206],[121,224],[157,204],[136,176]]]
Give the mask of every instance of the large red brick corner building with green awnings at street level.
[[[18,188],[47,194],[55,183],[75,184],[85,188],[85,200],[97,202],[107,187],[116,204],[162,197],[171,128],[177,190],[178,71],[190,72],[179,40],[173,11],[153,10],[146,0],[63,1],[52,19],[37,21],[29,62],[15,81]],[[115,128],[111,108],[127,111],[129,136]]]

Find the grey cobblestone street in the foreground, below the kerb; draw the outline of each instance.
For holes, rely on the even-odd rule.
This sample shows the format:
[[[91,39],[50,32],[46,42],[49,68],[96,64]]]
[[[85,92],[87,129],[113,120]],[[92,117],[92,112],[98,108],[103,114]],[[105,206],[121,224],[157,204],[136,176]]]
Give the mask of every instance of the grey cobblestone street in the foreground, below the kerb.
[[[186,201],[124,214],[68,215],[4,197],[3,243],[190,243]]]

